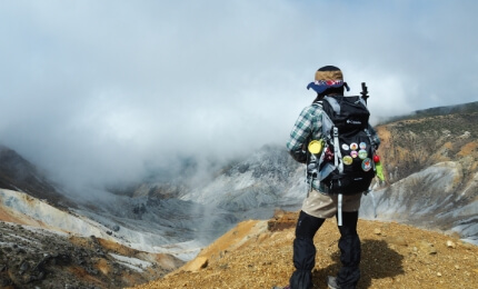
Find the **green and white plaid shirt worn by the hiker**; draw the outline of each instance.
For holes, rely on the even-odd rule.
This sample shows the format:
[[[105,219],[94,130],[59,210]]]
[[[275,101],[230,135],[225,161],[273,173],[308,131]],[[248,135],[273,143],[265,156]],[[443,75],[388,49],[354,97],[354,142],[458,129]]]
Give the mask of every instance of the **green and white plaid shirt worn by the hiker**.
[[[311,140],[319,140],[322,138],[322,114],[323,110],[319,106],[308,106],[301,112],[299,118],[290,132],[289,141],[287,142],[287,149],[292,158],[301,163],[306,163],[308,160],[307,146]],[[376,144],[376,149],[380,144],[380,139],[377,136],[375,129],[369,124],[368,130],[371,134],[372,141]],[[307,180],[308,182],[310,180]],[[319,191],[323,191],[319,181],[312,180],[312,188]]]

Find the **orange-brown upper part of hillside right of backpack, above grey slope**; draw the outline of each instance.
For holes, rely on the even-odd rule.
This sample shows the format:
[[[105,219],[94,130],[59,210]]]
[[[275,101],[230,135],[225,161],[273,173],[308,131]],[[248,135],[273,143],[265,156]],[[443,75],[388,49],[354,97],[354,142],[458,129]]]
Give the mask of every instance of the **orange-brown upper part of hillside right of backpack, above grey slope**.
[[[458,161],[467,181],[478,168],[478,111],[399,120],[377,127],[389,181],[442,161]],[[457,188],[459,189],[459,188]]]

